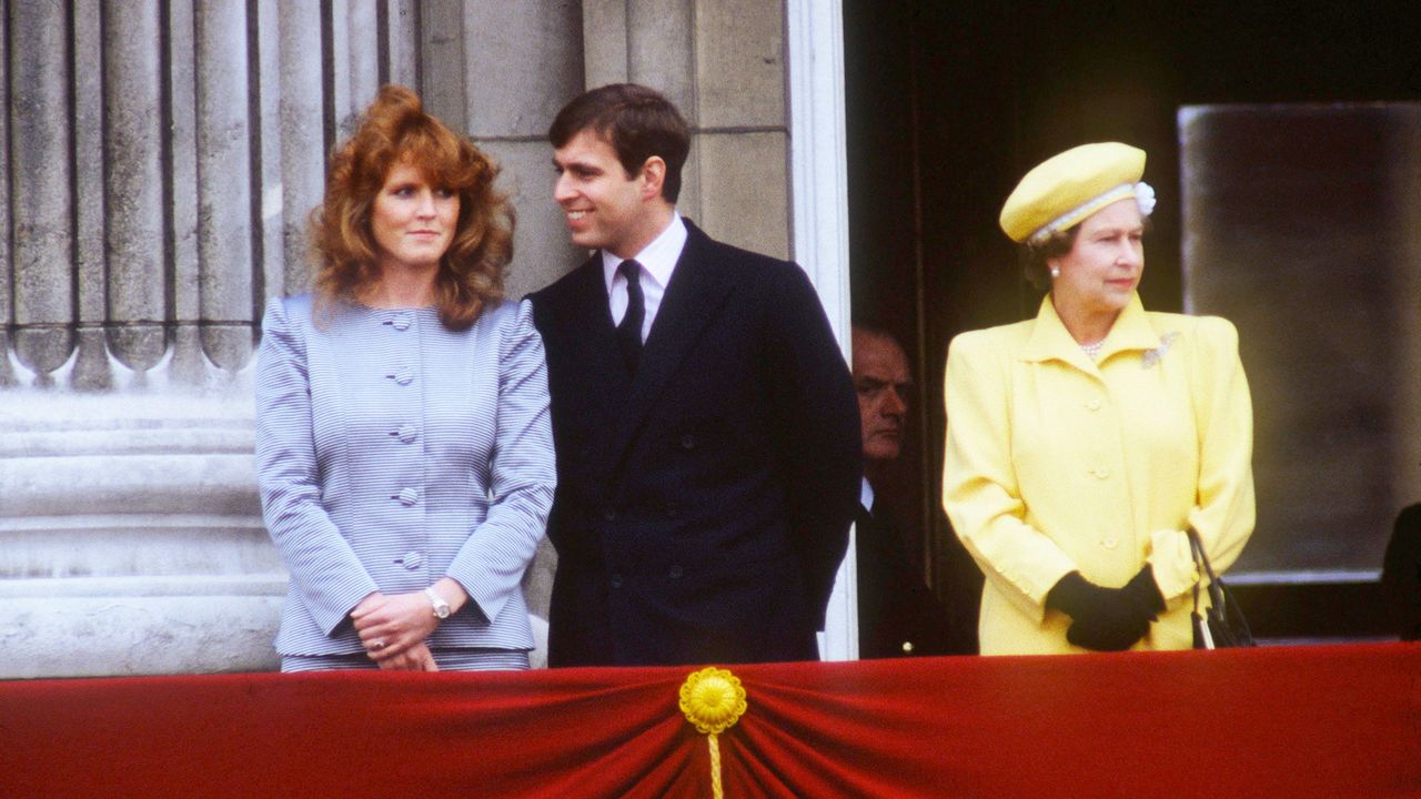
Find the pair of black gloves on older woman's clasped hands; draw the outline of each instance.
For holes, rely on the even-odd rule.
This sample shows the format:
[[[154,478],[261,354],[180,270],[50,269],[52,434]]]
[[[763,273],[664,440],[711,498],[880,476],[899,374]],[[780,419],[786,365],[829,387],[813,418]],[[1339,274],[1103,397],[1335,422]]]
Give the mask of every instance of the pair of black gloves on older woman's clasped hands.
[[[1128,650],[1164,610],[1164,596],[1145,564],[1124,587],[1104,589],[1071,572],[1046,594],[1046,607],[1071,617],[1066,640],[1097,651]]]

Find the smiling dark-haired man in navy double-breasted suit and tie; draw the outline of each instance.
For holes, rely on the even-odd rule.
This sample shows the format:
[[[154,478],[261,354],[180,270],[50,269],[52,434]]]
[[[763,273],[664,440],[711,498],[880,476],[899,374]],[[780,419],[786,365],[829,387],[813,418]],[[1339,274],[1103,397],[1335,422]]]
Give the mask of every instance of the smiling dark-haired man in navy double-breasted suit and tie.
[[[814,660],[861,475],[843,354],[796,264],[675,208],[689,131],[593,90],[549,129],[573,243],[533,294],[558,485],[550,665]]]

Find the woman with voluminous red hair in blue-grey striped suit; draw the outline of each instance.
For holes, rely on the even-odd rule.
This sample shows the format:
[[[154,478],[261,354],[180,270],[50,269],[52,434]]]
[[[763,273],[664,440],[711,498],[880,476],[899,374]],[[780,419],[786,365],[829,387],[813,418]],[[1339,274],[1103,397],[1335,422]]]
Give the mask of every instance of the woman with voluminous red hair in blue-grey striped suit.
[[[291,573],[283,671],[529,665],[520,583],[556,478],[496,175],[384,87],[311,213],[315,293],[267,304],[256,454]]]

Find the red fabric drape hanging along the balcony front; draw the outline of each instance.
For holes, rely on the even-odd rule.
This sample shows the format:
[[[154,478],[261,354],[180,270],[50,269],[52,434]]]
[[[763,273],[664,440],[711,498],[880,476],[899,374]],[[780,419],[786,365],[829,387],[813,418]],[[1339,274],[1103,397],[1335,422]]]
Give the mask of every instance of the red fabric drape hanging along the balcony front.
[[[729,668],[726,796],[1421,796],[1421,644]],[[0,682],[0,796],[709,796],[691,671]]]

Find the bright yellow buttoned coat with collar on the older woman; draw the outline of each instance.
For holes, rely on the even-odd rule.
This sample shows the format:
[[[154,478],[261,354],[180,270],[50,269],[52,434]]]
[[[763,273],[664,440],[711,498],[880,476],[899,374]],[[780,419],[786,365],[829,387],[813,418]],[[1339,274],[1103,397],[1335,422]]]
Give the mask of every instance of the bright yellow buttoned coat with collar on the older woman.
[[[982,654],[1080,651],[1046,593],[1147,562],[1167,610],[1142,650],[1191,645],[1194,526],[1215,570],[1253,532],[1253,414],[1238,331],[1135,296],[1091,363],[1050,297],[1034,320],[952,340],[942,505],[986,574]],[[1201,601],[1202,601],[1201,596]]]

